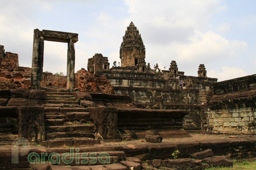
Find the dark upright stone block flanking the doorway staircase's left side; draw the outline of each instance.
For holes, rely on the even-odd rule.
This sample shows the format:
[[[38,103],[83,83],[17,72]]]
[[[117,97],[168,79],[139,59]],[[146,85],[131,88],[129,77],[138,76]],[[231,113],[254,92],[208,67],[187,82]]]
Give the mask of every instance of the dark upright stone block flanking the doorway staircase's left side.
[[[18,137],[26,138],[30,144],[45,140],[44,107],[18,107]]]

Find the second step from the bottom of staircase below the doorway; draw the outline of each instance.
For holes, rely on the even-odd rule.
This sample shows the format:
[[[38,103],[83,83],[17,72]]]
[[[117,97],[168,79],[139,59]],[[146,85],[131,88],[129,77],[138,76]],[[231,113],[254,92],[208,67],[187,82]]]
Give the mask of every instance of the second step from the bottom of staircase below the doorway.
[[[56,138],[95,138],[93,133],[86,132],[53,132],[46,134],[46,140],[53,140]]]

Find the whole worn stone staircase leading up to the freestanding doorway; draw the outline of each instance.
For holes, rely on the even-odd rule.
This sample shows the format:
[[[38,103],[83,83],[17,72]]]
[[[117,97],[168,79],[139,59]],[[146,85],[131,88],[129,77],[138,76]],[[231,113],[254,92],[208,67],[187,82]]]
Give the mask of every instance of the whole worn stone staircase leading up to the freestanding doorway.
[[[72,93],[47,93],[44,104],[46,147],[75,147],[100,144],[88,109],[79,106]]]

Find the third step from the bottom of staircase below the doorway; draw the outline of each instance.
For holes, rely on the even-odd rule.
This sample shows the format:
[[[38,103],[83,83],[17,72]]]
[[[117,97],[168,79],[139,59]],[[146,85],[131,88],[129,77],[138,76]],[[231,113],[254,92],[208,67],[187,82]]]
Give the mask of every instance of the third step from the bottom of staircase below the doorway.
[[[68,125],[68,126],[48,126],[45,127],[48,133],[52,132],[96,132],[95,125]]]

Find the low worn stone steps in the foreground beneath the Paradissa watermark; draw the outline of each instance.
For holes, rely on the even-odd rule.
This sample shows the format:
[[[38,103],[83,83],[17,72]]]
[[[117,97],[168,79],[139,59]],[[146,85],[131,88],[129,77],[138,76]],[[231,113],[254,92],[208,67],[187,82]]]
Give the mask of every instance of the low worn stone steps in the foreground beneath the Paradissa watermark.
[[[72,151],[53,149],[52,152],[57,152],[61,158],[67,152],[69,154],[64,156],[64,159],[60,159],[59,163],[33,164],[31,168],[47,169],[47,166],[50,166],[51,170],[141,170],[142,168],[140,159],[126,157],[126,153],[117,147],[80,147]]]

